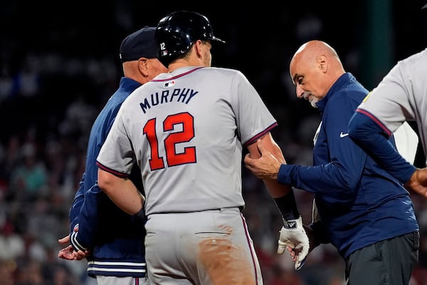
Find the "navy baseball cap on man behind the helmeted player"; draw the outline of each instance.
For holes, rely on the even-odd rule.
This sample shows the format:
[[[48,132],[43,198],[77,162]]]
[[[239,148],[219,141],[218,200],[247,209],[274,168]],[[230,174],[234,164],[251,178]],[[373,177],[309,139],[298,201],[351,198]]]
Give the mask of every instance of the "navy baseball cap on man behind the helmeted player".
[[[144,26],[131,33],[120,44],[120,61],[137,61],[139,58],[157,58],[156,27]]]

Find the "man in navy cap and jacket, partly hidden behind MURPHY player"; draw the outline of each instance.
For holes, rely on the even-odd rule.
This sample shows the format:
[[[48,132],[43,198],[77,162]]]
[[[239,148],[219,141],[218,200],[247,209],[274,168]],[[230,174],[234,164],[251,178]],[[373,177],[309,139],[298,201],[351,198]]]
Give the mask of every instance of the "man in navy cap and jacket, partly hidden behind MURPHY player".
[[[96,185],[96,157],[122,102],[130,93],[167,69],[157,59],[155,27],[144,27],[120,45],[124,77],[93,124],[88,141],[85,174],[70,208],[71,246],[59,252],[63,259],[88,258],[88,276],[97,284],[146,284],[144,221],[123,212]],[[137,165],[130,181],[142,191]]]

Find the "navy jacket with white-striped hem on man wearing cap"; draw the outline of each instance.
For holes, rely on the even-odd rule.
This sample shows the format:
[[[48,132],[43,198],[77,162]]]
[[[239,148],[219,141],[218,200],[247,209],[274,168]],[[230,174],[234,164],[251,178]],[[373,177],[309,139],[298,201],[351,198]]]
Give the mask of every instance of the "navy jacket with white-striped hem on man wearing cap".
[[[86,168],[70,208],[70,242],[74,249],[89,249],[88,275],[144,277],[146,264],[144,223],[119,209],[97,186],[96,158],[123,101],[141,86],[121,78],[120,86],[97,116],[88,141]],[[142,192],[137,165],[130,179]],[[78,232],[73,228],[78,225]]]

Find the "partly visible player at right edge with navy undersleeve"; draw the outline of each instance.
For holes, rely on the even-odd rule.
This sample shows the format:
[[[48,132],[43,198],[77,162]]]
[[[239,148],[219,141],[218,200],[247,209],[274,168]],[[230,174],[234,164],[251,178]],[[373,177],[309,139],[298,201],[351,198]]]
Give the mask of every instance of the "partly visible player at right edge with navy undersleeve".
[[[349,121],[349,137],[408,189],[427,197],[427,169],[401,157],[388,139],[405,121],[416,121],[427,154],[427,48],[399,61],[364,98]]]

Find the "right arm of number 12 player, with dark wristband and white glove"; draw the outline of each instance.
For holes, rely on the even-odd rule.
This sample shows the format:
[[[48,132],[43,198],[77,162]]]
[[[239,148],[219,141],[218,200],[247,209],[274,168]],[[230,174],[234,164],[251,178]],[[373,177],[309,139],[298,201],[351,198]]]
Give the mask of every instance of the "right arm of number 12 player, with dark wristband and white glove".
[[[251,158],[256,159],[261,156],[260,150],[258,150],[260,142],[262,142],[263,148],[268,150],[268,155],[276,157],[278,168],[281,164],[286,163],[282,150],[280,150],[270,133],[261,137],[257,142],[248,145],[248,155]],[[283,217],[284,225],[280,230],[278,254],[283,254],[287,247],[292,248],[292,254],[294,254],[292,260],[295,261],[295,269],[298,270],[304,265],[305,258],[310,251],[310,242],[302,225],[302,217],[297,209],[292,187],[280,184],[277,180],[277,173],[276,177],[264,178],[263,182]]]

